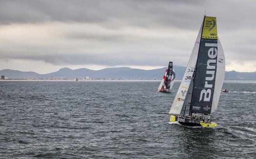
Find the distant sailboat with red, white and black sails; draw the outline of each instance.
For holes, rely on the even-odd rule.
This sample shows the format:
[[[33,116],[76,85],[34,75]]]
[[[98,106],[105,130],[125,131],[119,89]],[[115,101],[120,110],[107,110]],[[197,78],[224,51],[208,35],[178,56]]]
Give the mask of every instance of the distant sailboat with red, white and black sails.
[[[157,89],[158,92],[170,92],[175,79],[175,72],[173,70],[173,62],[169,62],[168,67],[164,72],[163,79]]]

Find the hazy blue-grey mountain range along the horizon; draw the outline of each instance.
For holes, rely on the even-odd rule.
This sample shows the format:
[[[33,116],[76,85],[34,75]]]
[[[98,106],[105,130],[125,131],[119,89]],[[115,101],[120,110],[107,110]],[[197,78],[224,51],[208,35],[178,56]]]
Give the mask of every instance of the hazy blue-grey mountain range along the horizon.
[[[89,76],[92,79],[162,79],[166,67],[153,70],[142,70],[130,67],[104,68],[102,70],[90,70],[79,68],[72,70],[70,68],[61,68],[56,72],[49,74],[38,74],[36,72],[22,72],[18,70],[4,69],[0,70],[0,75],[5,75],[8,79],[48,79],[48,78],[85,78]],[[182,79],[186,67],[174,66],[176,79]],[[225,73],[225,80],[256,80],[256,72],[236,72],[229,71]]]

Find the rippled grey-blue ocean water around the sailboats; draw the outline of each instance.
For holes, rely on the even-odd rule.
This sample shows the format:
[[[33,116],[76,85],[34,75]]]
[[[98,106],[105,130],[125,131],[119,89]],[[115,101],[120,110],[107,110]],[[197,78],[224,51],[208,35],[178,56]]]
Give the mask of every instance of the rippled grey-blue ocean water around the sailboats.
[[[225,81],[218,127],[168,122],[160,81],[0,81],[1,158],[253,158],[256,81]]]

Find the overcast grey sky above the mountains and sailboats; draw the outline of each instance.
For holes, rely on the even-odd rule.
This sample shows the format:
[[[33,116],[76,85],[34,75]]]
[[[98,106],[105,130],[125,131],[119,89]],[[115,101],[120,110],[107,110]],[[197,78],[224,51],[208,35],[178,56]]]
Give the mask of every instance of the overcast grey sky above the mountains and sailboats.
[[[226,70],[256,71],[254,0],[1,0],[0,70],[187,66],[203,16],[217,17]]]

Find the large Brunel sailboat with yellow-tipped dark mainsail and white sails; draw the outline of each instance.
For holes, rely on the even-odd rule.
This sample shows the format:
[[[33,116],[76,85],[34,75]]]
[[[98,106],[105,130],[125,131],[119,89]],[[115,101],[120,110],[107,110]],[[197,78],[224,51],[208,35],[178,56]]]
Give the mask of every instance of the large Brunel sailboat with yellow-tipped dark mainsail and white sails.
[[[225,76],[225,56],[216,17],[204,16],[182,82],[168,115],[182,125],[216,127],[216,112]]]

